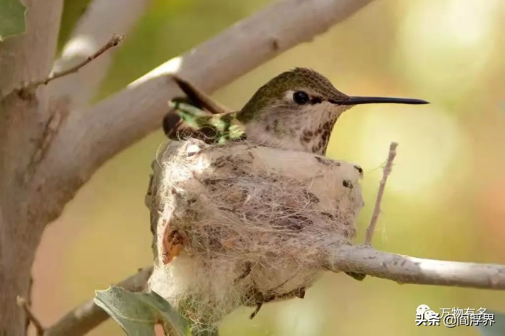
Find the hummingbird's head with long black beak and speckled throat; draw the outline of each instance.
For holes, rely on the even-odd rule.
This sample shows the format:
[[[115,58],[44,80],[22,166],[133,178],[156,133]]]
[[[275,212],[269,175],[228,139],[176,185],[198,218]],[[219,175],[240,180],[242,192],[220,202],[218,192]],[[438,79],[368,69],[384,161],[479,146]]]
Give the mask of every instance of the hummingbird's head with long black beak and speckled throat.
[[[320,73],[295,68],[263,85],[239,111],[248,126],[247,135],[263,136],[264,142],[324,154],[333,126],[343,111],[358,104],[425,104],[424,100],[354,97],[337,90]],[[265,132],[265,133],[263,133]],[[263,133],[263,134],[262,134]],[[271,141],[268,141],[268,139]],[[294,143],[295,141],[296,143]]]

